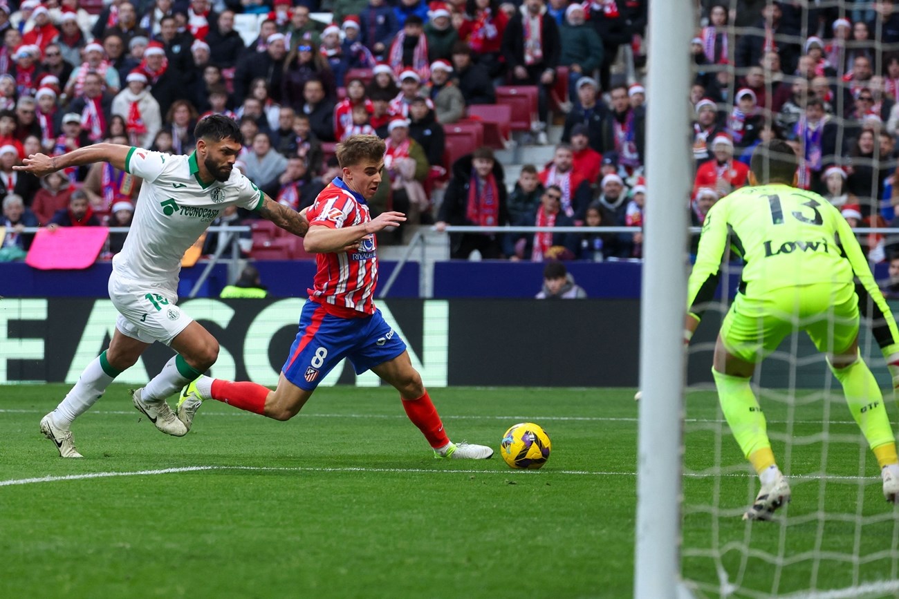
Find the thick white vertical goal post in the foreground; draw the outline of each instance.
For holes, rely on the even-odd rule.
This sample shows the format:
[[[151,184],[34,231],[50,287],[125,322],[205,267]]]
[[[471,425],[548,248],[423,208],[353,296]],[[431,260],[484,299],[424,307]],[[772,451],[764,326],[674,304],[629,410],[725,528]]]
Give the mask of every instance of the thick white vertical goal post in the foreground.
[[[681,586],[681,419],[687,297],[690,0],[649,3],[645,263],[640,316],[639,449],[634,596],[689,596]]]

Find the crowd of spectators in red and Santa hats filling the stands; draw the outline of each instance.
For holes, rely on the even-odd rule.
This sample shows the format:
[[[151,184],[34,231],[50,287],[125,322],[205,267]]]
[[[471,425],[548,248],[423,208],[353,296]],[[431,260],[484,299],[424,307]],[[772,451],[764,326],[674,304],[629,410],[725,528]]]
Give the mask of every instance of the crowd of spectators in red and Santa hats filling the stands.
[[[752,149],[775,137],[803,155],[806,189],[858,225],[893,222],[894,3],[854,11],[736,4],[703,2],[691,41],[693,225],[746,184]],[[101,140],[188,154],[194,125],[209,114],[239,122],[246,145],[238,167],[298,210],[339,173],[334,144],[374,133],[387,140],[384,181],[370,203],[376,214],[401,210],[411,224],[438,229],[643,224],[647,0],[113,0],[86,8],[99,14],[79,0],[0,4],[0,260],[27,251],[21,225],[127,225],[138,198],[140,181],[109,164],[36,181],[13,171],[24,156]],[[319,11],[333,23],[310,18]],[[240,13],[259,15],[248,45],[236,31]],[[638,68],[622,75],[613,66],[626,54]],[[562,93],[557,77],[567,80]],[[520,142],[546,144],[548,127],[564,125],[552,160],[522,166],[516,181],[487,147],[450,162],[444,128],[473,105],[494,104],[496,89],[509,85],[538,92]],[[211,241],[205,251],[214,251]],[[107,254],[120,242],[111,238]],[[886,260],[888,242],[863,239],[875,261]],[[249,240],[240,247],[250,251]],[[454,233],[450,251],[458,259],[472,251],[638,259],[642,233]]]

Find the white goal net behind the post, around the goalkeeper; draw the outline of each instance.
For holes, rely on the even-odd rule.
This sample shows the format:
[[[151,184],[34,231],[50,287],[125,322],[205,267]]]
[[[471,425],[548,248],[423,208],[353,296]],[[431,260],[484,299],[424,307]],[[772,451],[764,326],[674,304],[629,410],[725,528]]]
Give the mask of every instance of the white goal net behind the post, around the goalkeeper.
[[[868,228],[886,227],[895,217],[899,6],[704,0],[695,25],[694,216],[702,222],[700,194],[717,198],[746,184],[733,163],[748,163],[758,141],[784,139],[801,157],[799,186],[860,227],[876,277],[888,277],[899,240]],[[699,172],[704,162],[706,179]],[[736,256],[725,261],[718,299],[689,348],[681,479],[685,586],[701,597],[899,596],[899,511],[886,504],[877,459],[841,384],[805,333],[788,336],[752,377],[792,502],[771,522],[741,517],[760,482],[727,426],[710,373],[741,269]],[[895,432],[892,380],[864,318],[859,349],[883,389]]]

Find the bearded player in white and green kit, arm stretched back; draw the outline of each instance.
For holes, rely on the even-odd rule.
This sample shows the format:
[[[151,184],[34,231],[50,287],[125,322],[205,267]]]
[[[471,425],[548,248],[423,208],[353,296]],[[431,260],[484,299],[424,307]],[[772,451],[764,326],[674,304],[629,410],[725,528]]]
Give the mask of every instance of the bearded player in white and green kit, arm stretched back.
[[[40,421],[40,431],[63,457],[81,457],[70,429],[75,418],[154,341],[177,353],[146,387],[132,393],[132,401],[161,431],[174,436],[187,433],[165,398],[215,363],[218,341],[176,305],[178,273],[184,251],[225,207],[254,210],[290,233],[307,232],[305,216],[273,201],[234,168],[243,146],[234,120],[210,116],[200,120],[194,134],[197,149],[190,156],[96,144],[53,158],[31,154],[15,167],[43,177],[70,166],[108,162],[144,180],[128,238],[112,260],[109,292],[119,318],[110,347],[85,368],[57,409]]]

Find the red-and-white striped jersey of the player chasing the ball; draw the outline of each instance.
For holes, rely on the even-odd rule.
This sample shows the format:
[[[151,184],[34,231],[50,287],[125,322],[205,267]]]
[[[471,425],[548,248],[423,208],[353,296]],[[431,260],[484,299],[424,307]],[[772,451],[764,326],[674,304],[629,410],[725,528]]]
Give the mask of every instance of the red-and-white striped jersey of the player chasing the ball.
[[[339,177],[318,194],[307,211],[310,226],[332,229],[361,225],[371,220],[365,198],[347,188]],[[316,254],[316,278],[309,299],[325,306],[327,313],[360,318],[375,313],[378,285],[378,253],[375,236],[362,240],[356,251]]]

